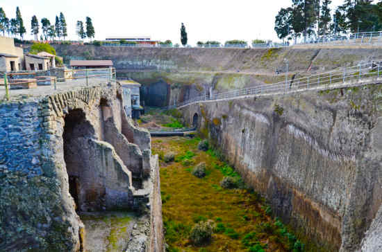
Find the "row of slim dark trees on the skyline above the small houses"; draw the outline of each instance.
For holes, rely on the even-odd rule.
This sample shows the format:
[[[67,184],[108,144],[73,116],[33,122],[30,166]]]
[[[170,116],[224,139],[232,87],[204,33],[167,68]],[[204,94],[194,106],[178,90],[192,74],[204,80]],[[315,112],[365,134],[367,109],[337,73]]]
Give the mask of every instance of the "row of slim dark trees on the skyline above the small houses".
[[[41,41],[48,39],[54,40],[56,38],[63,38],[64,40],[66,39],[67,23],[63,12],[60,12],[60,15],[56,16],[54,24],[53,22],[51,23],[51,21],[46,17],[42,18],[40,23],[36,15],[33,15],[31,19],[31,35],[34,36],[34,39],[36,41],[38,40],[38,35],[40,34],[40,27]],[[80,28],[79,30],[78,27]],[[24,35],[26,34],[26,28],[24,26],[24,21],[22,19],[19,7],[16,8],[16,17],[12,19],[9,19],[6,16],[6,12],[3,10],[3,8],[0,7],[0,32],[3,33],[3,36],[5,36],[7,33],[8,36],[13,35],[24,39]],[[95,32],[94,26],[92,24],[92,19],[90,17],[86,17],[85,28],[83,26],[82,21],[77,21],[76,33],[81,39],[84,39],[85,37],[88,37],[90,39],[94,38]]]

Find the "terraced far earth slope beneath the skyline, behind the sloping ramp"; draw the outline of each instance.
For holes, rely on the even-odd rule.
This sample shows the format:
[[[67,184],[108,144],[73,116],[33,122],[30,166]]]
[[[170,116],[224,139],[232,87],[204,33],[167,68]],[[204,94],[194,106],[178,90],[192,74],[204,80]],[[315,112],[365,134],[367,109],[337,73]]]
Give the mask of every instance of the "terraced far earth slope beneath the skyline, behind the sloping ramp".
[[[117,77],[143,84],[146,105],[164,106],[193,96],[299,78],[361,60],[382,59],[381,48],[127,48],[54,45],[69,60],[113,60]]]

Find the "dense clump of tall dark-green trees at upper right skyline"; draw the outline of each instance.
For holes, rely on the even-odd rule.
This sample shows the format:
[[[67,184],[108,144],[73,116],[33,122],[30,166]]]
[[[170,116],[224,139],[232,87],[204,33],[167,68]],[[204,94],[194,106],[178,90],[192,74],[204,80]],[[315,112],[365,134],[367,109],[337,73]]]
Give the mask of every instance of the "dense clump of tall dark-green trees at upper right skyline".
[[[344,33],[371,32],[382,29],[382,1],[344,0],[333,10],[331,0],[292,0],[281,8],[274,30],[279,39],[294,39]]]

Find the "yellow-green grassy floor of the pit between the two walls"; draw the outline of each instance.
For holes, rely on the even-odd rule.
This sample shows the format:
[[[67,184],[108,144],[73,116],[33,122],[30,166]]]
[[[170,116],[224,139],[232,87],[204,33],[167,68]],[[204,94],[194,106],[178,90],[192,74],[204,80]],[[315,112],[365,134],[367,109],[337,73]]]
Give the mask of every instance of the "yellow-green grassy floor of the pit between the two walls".
[[[219,160],[217,152],[198,150],[199,138],[153,138],[152,149],[160,157],[163,222],[168,251],[322,251],[297,237],[279,219],[265,200],[248,188],[224,189],[220,181],[238,174]],[[168,152],[175,161],[165,163]],[[192,168],[206,163],[206,177],[192,175]],[[213,239],[194,246],[188,239],[195,223],[212,219]]]

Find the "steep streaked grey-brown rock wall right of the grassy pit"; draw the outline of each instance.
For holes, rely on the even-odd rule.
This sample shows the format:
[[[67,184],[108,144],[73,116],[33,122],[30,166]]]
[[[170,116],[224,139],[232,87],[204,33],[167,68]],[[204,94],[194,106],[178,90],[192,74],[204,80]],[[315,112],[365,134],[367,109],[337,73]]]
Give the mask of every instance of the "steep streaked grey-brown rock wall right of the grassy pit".
[[[190,124],[199,115],[200,132],[267,197],[275,215],[329,251],[359,251],[382,203],[381,85],[181,110]],[[372,235],[379,222],[364,251],[381,246],[381,235]]]

